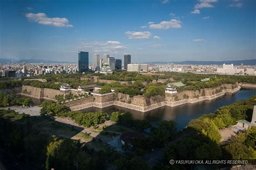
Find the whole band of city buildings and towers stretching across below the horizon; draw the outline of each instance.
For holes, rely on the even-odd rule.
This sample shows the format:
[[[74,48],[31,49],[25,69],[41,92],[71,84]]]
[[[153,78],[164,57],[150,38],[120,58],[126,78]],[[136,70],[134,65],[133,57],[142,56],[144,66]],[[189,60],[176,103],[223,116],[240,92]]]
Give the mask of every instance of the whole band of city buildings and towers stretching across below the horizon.
[[[93,63],[89,64],[89,52],[78,52],[78,64],[26,64],[26,63],[0,63],[1,77],[29,77],[43,74],[58,73],[113,73],[114,70],[131,72],[193,72],[204,74],[230,74],[230,75],[256,75],[255,65],[182,65],[182,64],[134,64],[131,55],[125,54],[122,59],[110,55],[93,55]]]

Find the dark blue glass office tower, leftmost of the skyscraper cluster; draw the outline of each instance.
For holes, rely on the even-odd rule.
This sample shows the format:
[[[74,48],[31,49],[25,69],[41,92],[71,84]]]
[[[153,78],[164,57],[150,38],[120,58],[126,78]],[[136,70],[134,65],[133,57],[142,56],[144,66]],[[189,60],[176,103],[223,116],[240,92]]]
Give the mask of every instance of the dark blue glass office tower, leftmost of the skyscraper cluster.
[[[89,52],[78,52],[78,73],[89,71]]]

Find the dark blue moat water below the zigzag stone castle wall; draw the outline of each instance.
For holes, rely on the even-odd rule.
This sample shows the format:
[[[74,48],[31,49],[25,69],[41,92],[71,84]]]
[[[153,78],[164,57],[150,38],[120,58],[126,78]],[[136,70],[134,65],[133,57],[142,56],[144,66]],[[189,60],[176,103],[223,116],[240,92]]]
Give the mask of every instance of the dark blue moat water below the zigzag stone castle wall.
[[[139,112],[118,106],[105,108],[91,107],[82,110],[82,112],[130,112],[134,119],[146,119],[152,124],[155,124],[160,120],[174,120],[177,123],[177,129],[182,130],[187,126],[190,120],[197,119],[202,114],[214,113],[221,106],[229,105],[238,100],[248,99],[254,94],[256,94],[256,89],[241,89],[237,93],[225,94],[224,96],[213,100],[200,101],[194,104],[184,104],[175,107],[163,106],[148,112]]]

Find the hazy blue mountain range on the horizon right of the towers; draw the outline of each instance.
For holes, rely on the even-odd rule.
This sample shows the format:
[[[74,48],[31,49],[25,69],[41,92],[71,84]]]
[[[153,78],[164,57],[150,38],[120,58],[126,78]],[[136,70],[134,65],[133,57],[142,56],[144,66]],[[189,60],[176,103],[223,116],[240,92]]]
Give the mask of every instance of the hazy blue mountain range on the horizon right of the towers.
[[[145,62],[145,64],[191,64],[191,65],[222,65],[222,64],[234,64],[234,65],[256,65],[256,59],[247,60],[231,60],[231,61],[183,61],[183,62]]]

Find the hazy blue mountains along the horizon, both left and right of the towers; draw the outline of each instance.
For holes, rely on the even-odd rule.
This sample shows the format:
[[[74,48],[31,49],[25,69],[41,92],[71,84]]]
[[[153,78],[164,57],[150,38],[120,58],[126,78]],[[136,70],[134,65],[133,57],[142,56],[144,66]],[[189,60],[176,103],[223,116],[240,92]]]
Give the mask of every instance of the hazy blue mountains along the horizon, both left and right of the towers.
[[[57,62],[51,60],[41,60],[41,59],[22,59],[22,60],[15,60],[10,58],[0,58],[0,63],[45,63],[45,64],[75,64],[77,62]],[[256,65],[256,59],[247,59],[247,60],[231,60],[231,61],[183,61],[183,62],[144,62],[144,64],[191,64],[191,65],[222,65],[222,64],[234,64],[234,65]]]

